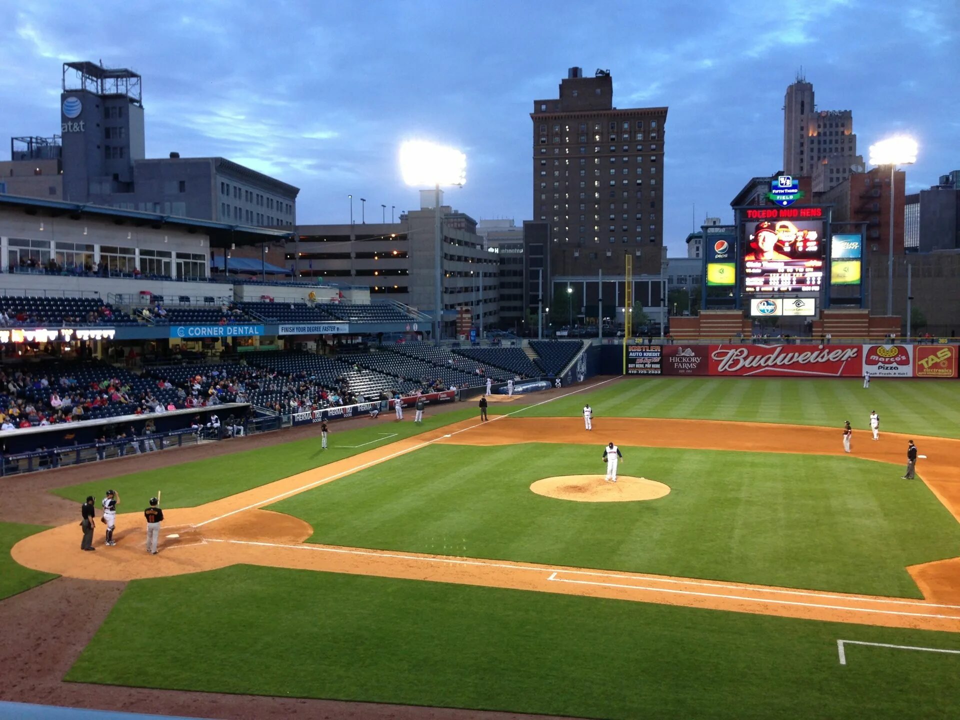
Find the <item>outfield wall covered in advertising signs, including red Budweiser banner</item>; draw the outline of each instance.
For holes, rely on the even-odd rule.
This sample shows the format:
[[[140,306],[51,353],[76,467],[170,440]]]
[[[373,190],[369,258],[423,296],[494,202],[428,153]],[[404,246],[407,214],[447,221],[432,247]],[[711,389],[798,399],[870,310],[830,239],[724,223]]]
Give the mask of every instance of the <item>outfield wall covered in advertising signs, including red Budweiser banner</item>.
[[[608,348],[610,348],[608,350]],[[623,370],[623,346],[603,348],[603,372]],[[711,377],[957,377],[955,345],[627,346],[627,374]]]

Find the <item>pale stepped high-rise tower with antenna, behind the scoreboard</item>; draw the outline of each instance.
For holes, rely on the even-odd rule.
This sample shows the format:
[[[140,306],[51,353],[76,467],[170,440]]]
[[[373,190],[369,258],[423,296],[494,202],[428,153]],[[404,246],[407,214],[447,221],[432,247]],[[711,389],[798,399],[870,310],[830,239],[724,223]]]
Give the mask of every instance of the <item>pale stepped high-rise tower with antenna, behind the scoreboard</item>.
[[[863,172],[856,154],[851,110],[818,110],[813,84],[798,75],[783,99],[783,173],[812,178],[814,192],[825,192],[846,180],[855,168]]]

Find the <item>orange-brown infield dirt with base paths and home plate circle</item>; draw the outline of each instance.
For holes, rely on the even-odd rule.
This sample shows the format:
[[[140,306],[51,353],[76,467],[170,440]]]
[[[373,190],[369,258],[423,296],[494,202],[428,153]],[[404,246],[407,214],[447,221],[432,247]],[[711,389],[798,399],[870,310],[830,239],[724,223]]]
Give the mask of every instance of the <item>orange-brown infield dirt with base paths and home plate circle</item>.
[[[117,518],[115,547],[98,544],[96,553],[80,552],[80,529],[76,522],[71,522],[21,540],[13,547],[12,557],[17,563],[38,570],[103,581],[257,564],[960,632],[960,559],[908,568],[925,597],[912,600],[317,545],[303,542],[312,534],[306,522],[262,510],[284,497],[436,443],[597,444],[598,440],[606,440],[609,432],[624,445],[757,452],[797,447],[807,453],[844,454],[839,433],[833,428],[618,418],[604,419],[597,429],[603,432],[586,432],[579,418],[501,416],[489,422],[465,420],[203,506],[166,511],[168,521],[163,527],[161,552],[156,556],[144,552],[142,516],[129,514]],[[854,436],[855,457],[900,463],[905,455],[907,436],[885,433],[875,443],[866,432],[858,435],[861,437]],[[913,437],[928,455],[918,466],[924,482],[954,516],[960,517],[960,480],[950,466],[960,450],[960,441]]]

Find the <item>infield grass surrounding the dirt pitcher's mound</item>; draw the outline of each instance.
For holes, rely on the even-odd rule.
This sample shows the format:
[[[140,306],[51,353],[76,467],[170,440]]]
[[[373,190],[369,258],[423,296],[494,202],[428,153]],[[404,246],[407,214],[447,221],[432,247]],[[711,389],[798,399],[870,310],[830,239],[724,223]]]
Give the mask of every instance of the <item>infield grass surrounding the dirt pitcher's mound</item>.
[[[650,502],[530,491],[602,471],[599,445],[431,445],[269,506],[333,545],[922,597],[904,567],[958,554],[960,525],[901,468],[852,457],[623,447]]]

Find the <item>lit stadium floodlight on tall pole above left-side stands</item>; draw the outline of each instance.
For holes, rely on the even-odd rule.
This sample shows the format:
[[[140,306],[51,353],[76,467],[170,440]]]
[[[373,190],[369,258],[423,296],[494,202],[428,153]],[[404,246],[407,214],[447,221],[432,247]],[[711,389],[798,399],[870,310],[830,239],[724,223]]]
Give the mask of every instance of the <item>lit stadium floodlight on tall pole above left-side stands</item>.
[[[467,182],[467,156],[424,140],[408,140],[400,146],[400,171],[408,185],[434,186],[434,280],[433,338],[440,340],[443,327],[444,289],[442,263],[444,230],[440,215],[440,186]]]

